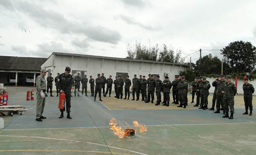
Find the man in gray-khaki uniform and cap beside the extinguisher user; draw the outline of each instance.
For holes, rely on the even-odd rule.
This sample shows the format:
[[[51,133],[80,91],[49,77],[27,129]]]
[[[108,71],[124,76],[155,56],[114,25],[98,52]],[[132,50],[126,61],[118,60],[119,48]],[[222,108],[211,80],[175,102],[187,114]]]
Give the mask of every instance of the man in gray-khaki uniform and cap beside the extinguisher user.
[[[47,73],[46,69],[41,69],[41,75],[39,75],[36,78],[36,121],[41,122],[42,119],[45,119],[42,114],[44,112],[44,105],[45,105],[45,96],[47,95],[46,92],[46,80],[45,80],[45,75]]]

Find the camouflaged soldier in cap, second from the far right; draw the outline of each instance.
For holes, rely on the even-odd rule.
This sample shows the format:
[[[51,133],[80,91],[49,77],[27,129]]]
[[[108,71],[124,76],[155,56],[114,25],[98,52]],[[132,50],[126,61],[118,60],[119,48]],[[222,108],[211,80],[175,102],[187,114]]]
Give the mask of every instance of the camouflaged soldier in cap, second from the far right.
[[[234,96],[236,95],[236,85],[231,82],[231,76],[226,77],[226,83],[224,86],[224,91],[221,91],[224,94],[224,111],[225,115],[223,118],[233,119],[234,114]],[[230,109],[230,117],[228,116],[228,112]]]

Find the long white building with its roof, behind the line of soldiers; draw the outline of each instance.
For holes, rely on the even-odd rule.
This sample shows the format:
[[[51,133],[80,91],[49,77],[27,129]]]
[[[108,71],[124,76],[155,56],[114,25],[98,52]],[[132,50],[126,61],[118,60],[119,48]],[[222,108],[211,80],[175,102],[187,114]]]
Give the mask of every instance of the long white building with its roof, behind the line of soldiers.
[[[52,73],[52,77],[55,78],[57,73],[65,71],[66,66],[71,68],[72,74],[79,72],[81,76],[87,75],[87,90],[90,90],[89,76],[92,75],[95,79],[98,73],[104,73],[106,78],[112,75],[113,80],[118,75],[122,75],[122,78],[126,78],[126,75],[129,75],[132,80],[134,74],[137,75],[137,78],[140,78],[139,75],[145,75],[146,79],[148,74],[153,74],[154,78],[159,75],[162,81],[165,75],[169,76],[172,81],[175,75],[188,68],[187,65],[176,63],[58,52],[53,52],[42,64],[41,68],[47,69],[48,72]],[[54,85],[55,83],[53,82],[53,90],[56,90]]]

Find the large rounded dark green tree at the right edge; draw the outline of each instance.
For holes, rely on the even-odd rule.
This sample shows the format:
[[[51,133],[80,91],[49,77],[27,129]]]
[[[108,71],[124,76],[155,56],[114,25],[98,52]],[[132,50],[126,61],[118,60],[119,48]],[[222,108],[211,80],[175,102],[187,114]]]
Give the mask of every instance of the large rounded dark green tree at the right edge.
[[[251,73],[256,65],[256,47],[250,42],[235,41],[221,50],[232,72]]]

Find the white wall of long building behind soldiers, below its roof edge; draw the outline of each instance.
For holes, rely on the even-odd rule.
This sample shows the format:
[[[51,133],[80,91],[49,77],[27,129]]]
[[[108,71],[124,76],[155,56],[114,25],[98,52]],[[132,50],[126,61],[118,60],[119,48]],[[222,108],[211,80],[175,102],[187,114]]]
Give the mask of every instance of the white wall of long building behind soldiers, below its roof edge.
[[[49,66],[54,57],[54,66]],[[160,80],[164,80],[165,74],[168,74],[170,80],[174,80],[175,75],[178,74],[180,70],[184,70],[184,66],[173,66],[173,65],[163,65],[160,63],[143,63],[134,61],[124,61],[124,60],[110,60],[102,58],[88,58],[88,57],[72,57],[72,56],[51,56],[49,59],[41,66],[46,67],[46,69],[51,69],[52,76],[55,78],[57,73],[63,73],[65,67],[69,66],[71,70],[81,70],[87,71],[87,78],[90,79],[90,75],[93,78],[97,78],[98,73],[104,73],[106,78],[112,75],[112,79],[115,79],[116,72],[128,73],[130,79],[134,77],[134,74],[145,75],[148,78],[148,74],[159,74]],[[125,77],[126,78],[126,77]],[[55,83],[53,83],[55,85]],[[87,85],[88,90],[90,90],[90,84]],[[53,87],[56,90],[55,86]],[[113,89],[112,89],[113,90]]]

